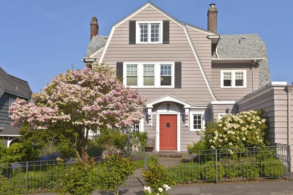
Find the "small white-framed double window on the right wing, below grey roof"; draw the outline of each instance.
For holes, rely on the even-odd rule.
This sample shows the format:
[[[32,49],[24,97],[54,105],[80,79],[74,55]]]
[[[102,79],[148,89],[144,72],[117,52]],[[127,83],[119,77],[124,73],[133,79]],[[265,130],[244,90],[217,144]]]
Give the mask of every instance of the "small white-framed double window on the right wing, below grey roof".
[[[221,88],[246,88],[246,70],[221,70]]]

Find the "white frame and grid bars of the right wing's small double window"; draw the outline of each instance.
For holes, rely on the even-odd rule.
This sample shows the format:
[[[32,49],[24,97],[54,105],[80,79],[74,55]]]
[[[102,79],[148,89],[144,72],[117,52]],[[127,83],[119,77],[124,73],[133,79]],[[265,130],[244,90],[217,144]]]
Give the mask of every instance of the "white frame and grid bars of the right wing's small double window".
[[[224,80],[227,79],[232,80],[231,86],[224,86]],[[243,85],[236,86],[236,79],[243,79]],[[246,88],[246,79],[246,70],[221,70],[221,88]]]

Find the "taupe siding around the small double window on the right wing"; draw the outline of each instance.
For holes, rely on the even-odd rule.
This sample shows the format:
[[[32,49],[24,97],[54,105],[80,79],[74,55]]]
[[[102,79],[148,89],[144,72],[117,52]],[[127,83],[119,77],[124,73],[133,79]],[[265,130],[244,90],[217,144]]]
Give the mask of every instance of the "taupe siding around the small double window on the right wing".
[[[212,64],[211,87],[219,100],[237,100],[252,92],[250,64]],[[246,88],[221,88],[221,70],[246,70]],[[258,66],[254,65],[254,90],[258,89]]]

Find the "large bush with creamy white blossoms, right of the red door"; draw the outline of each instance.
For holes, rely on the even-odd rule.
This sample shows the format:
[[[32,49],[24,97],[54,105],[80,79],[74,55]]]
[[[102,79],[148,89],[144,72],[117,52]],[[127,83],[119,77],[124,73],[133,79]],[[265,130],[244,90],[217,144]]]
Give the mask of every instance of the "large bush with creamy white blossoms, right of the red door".
[[[264,138],[266,121],[263,110],[224,115],[222,119],[206,124],[202,140],[210,149],[265,146],[268,143]]]

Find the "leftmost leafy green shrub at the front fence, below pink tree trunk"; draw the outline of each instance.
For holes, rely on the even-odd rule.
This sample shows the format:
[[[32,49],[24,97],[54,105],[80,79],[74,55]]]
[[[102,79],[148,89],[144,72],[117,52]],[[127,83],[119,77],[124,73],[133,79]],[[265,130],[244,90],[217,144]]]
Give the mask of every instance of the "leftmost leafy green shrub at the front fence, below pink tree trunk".
[[[92,161],[77,161],[64,169],[61,162],[59,170],[61,178],[59,182],[61,187],[59,193],[61,195],[90,195],[96,187],[95,176],[93,174],[94,163]]]

